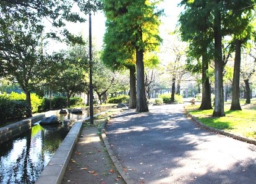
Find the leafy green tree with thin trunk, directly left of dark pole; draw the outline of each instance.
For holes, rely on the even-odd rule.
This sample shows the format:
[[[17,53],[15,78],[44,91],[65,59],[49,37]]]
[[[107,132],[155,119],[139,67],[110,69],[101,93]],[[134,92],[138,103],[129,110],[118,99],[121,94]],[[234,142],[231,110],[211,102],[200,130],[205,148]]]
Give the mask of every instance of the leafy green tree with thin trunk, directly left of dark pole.
[[[86,46],[88,43],[84,46],[76,44],[68,51],[56,53],[53,57],[54,66],[48,70],[49,77],[46,79],[48,85],[66,93],[68,107],[72,95],[87,90],[89,58]]]

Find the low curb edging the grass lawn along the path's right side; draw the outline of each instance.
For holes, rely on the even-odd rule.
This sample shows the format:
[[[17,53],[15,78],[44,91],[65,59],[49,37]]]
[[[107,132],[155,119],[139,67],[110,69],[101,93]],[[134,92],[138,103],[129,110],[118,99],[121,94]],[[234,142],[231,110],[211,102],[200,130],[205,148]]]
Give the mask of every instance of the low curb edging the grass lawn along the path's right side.
[[[187,110],[186,110],[186,115],[187,115],[187,117],[190,117],[193,120],[193,122],[195,122],[195,124],[198,125],[198,127],[202,127],[203,129],[208,130],[210,132],[220,133],[221,135],[229,136],[229,137],[231,137],[235,140],[239,140],[239,141],[243,141],[245,143],[250,143],[250,144],[255,144],[256,145],[255,140],[251,140],[249,138],[244,138],[242,136],[237,136],[237,135],[234,135],[232,133],[224,132],[223,130],[219,130],[219,129],[216,129],[216,128],[207,127],[202,122],[200,122],[196,117],[191,115]]]

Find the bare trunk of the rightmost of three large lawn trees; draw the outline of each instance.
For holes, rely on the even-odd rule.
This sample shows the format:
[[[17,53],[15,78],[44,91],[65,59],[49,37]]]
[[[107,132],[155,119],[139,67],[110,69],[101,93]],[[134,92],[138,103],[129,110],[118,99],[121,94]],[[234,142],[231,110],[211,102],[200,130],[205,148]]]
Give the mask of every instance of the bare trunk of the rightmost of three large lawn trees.
[[[234,61],[234,74],[232,82],[232,102],[231,102],[231,111],[242,111],[240,106],[240,65],[241,65],[241,45],[242,41],[236,39],[236,54]]]

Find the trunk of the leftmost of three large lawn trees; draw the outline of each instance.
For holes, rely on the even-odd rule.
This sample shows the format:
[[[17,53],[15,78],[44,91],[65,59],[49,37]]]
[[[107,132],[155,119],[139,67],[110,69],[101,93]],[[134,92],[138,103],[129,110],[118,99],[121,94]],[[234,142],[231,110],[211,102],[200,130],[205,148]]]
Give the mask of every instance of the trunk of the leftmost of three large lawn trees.
[[[209,110],[213,109],[211,107],[211,86],[210,80],[207,75],[207,70],[209,67],[208,59],[206,56],[202,56],[202,102],[199,107],[200,110]]]

